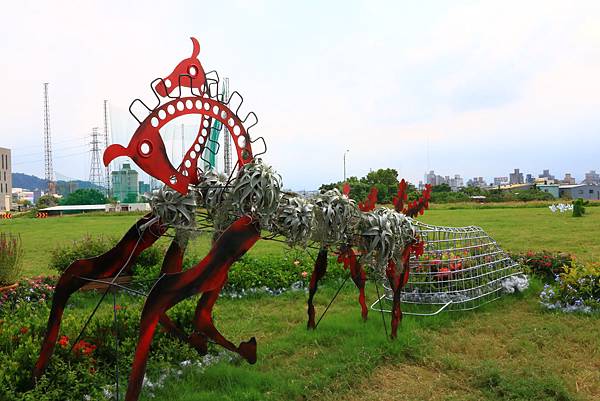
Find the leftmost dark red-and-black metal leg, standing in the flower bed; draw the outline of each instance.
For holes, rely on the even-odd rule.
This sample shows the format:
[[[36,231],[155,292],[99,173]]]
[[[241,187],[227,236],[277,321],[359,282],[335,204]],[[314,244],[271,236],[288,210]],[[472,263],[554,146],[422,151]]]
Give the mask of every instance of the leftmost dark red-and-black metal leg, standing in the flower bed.
[[[153,215],[144,216],[127,231],[114,248],[95,258],[76,260],[60,276],[52,298],[46,335],[33,368],[34,381],[44,373],[54,352],[63,311],[69,297],[89,282],[82,277],[96,280],[105,279],[114,277],[120,270],[130,269],[137,256],[164,233],[158,220],[142,228],[153,218]]]

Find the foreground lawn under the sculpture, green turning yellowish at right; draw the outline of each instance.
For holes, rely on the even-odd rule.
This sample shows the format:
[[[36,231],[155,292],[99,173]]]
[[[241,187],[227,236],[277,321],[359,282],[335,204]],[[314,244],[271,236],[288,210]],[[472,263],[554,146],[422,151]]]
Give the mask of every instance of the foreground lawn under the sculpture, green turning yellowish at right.
[[[319,312],[334,289],[317,296]],[[534,292],[474,312],[407,316],[395,341],[385,338],[376,312],[366,323],[360,320],[351,286],[314,332],[305,329],[301,294],[222,300],[216,309],[219,325],[236,343],[256,335],[258,363],[222,362],[204,373],[188,372],[155,396],[171,401],[598,399],[600,321],[542,312]],[[368,294],[375,298],[372,286]]]

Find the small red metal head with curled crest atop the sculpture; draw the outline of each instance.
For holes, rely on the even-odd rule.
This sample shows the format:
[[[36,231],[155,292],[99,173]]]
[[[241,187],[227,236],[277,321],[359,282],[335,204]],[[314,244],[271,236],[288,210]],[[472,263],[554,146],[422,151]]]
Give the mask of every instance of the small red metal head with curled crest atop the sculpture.
[[[177,67],[175,67],[173,72],[156,85],[156,92],[160,96],[166,97],[167,95],[170,95],[178,85],[197,89],[200,94],[203,93],[206,75],[204,73],[204,68],[202,68],[202,64],[200,64],[200,60],[198,60],[200,43],[198,43],[196,38],[192,37],[190,39],[192,39],[192,43],[194,44],[192,56],[177,64]]]

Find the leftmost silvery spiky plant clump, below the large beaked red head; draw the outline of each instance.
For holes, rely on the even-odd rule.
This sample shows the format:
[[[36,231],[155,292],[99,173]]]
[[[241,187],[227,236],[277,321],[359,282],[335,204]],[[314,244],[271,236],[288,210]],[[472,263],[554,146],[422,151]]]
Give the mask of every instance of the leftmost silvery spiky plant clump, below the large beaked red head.
[[[167,187],[154,191],[150,205],[162,222],[175,228],[191,228],[196,223],[196,194],[187,195]]]

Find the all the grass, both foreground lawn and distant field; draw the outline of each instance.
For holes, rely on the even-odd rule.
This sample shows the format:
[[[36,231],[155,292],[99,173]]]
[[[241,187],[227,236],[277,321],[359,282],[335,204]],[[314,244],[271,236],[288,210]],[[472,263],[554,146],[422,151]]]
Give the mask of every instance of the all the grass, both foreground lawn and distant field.
[[[509,251],[567,251],[598,261],[600,208],[587,210],[575,219],[547,208],[434,209],[423,221],[481,226]],[[4,220],[0,230],[21,233],[24,274],[37,275],[49,273],[46,263],[54,247],[86,233],[121,235],[137,218]],[[208,238],[195,241],[195,252],[206,251]],[[285,247],[262,241],[252,252],[275,256]],[[546,312],[537,299],[541,284],[533,286],[468,313],[407,316],[396,341],[385,338],[377,313],[371,311],[366,323],[360,320],[350,283],[314,332],[305,329],[303,292],[221,299],[215,308],[218,327],[234,343],[256,336],[258,363],[221,362],[204,372],[186,371],[153,398],[146,393],[142,399],[600,399],[599,317]],[[317,314],[335,290],[330,283],[317,294]],[[376,299],[372,284],[367,296]]]

